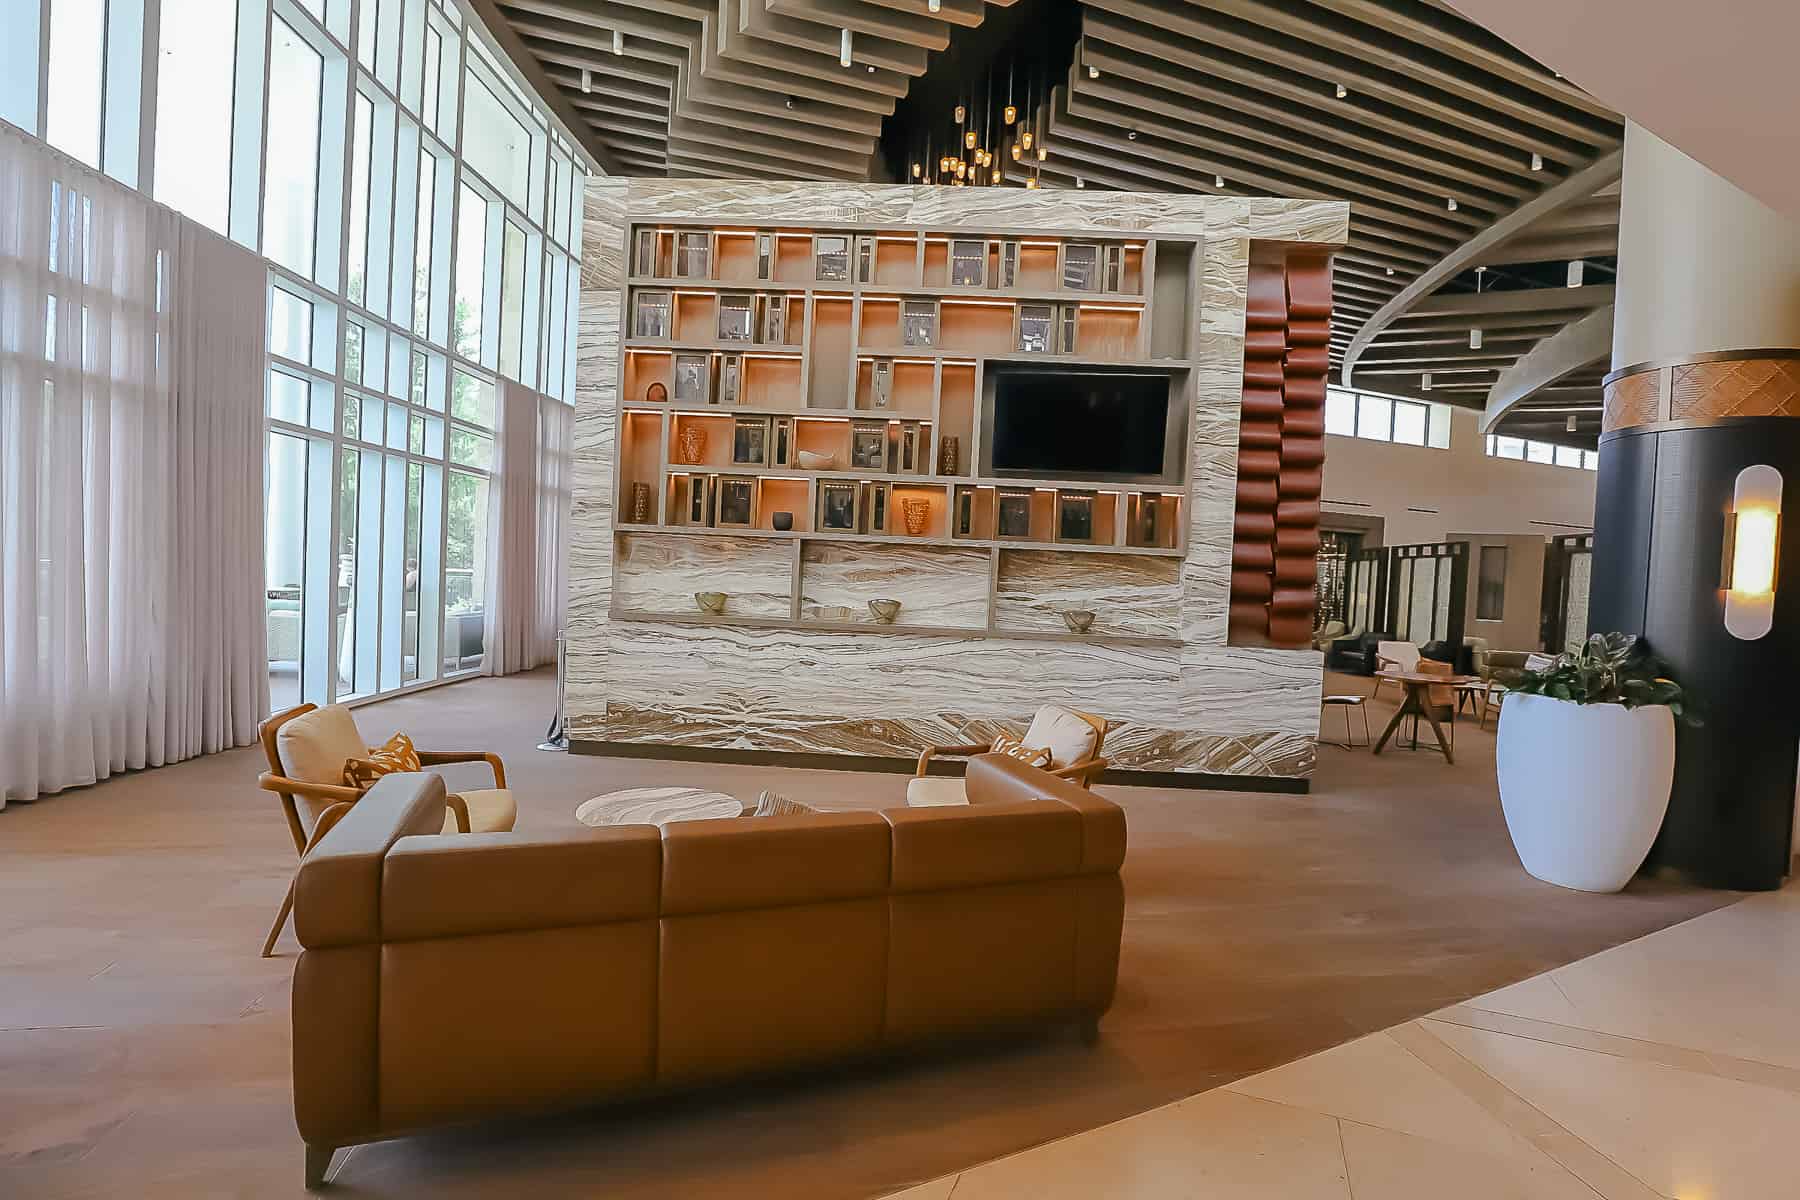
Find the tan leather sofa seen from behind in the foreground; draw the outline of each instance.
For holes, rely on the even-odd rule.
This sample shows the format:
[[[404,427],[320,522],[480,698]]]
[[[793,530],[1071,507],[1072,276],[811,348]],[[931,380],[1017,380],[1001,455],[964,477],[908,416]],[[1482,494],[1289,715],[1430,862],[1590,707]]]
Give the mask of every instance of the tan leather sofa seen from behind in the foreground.
[[[1001,756],[968,806],[441,835],[387,775],[301,865],[293,1112],[338,1146],[1075,1022],[1125,815]]]

